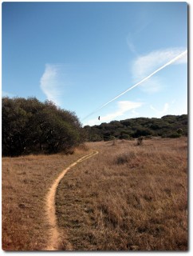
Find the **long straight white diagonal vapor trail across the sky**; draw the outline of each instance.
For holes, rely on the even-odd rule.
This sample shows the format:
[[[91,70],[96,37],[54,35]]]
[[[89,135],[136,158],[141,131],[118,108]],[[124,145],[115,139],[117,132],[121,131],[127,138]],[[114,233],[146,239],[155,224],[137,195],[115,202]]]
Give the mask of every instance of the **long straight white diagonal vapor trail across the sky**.
[[[126,94],[129,90],[132,90],[133,88],[135,88],[136,86],[139,86],[142,82],[145,82],[146,80],[148,80],[149,78],[152,78],[152,76],[156,73],[158,73],[160,70],[163,70],[163,68],[165,68],[166,66],[171,65],[173,62],[176,62],[179,58],[182,58],[183,55],[187,54],[187,50],[183,51],[181,54],[177,55],[175,58],[172,58],[169,62],[167,62],[166,64],[164,64],[163,66],[160,66],[160,68],[158,68],[157,70],[155,70],[154,72],[152,72],[151,74],[148,75],[148,77],[142,79],[140,82],[137,82],[135,85],[129,87],[127,90],[124,90],[124,92],[122,92],[121,94],[117,95],[115,98],[112,98],[110,101],[104,103],[103,106],[100,106],[99,108],[97,108],[97,110],[94,110],[93,112],[91,112],[90,114],[88,114],[87,116],[85,116],[85,118],[83,118],[81,121],[85,120],[86,118],[89,118],[89,116],[91,116],[92,114],[95,114],[98,110],[101,110],[102,108],[104,108],[104,106],[107,106],[110,102],[113,102],[116,100],[116,98],[120,98],[120,96],[122,96],[123,94]]]

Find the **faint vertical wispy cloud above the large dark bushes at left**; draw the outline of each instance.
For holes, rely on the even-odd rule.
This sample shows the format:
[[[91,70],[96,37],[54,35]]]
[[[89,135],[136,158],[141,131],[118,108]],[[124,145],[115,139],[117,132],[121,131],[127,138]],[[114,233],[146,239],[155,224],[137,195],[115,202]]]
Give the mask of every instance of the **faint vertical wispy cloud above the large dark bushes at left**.
[[[62,66],[57,64],[46,64],[44,74],[40,79],[41,90],[46,98],[61,105],[62,94],[64,94]]]

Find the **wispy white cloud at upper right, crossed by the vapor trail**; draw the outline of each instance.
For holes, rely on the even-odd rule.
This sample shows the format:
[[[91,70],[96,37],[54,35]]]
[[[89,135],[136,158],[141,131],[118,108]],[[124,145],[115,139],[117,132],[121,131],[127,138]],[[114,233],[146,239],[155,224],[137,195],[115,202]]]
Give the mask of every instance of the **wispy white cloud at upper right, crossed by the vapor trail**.
[[[169,62],[172,58],[175,58],[181,54],[184,48],[170,48],[165,50],[155,50],[149,54],[138,56],[132,64],[132,77],[133,81],[137,82],[140,79],[145,78],[148,74],[151,74],[154,70],[162,66],[164,63]],[[175,65],[187,63],[187,54],[174,62]],[[154,93],[160,91],[162,88],[160,78],[158,76],[151,78],[148,82],[144,82],[140,86],[144,92]]]

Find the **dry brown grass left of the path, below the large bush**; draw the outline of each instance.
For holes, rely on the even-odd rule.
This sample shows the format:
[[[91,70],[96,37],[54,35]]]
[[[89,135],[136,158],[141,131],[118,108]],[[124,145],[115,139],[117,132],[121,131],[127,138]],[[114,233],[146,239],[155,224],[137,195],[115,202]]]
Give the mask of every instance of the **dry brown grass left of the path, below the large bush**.
[[[57,175],[85,154],[79,148],[69,156],[2,158],[3,250],[44,250],[49,238],[45,194]]]

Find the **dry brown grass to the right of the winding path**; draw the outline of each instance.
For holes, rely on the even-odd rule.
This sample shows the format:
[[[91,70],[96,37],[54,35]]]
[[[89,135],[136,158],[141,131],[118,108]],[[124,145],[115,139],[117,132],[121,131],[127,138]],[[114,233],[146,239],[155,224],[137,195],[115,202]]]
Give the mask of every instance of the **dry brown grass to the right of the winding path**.
[[[57,189],[73,250],[187,250],[187,138],[88,145]]]

